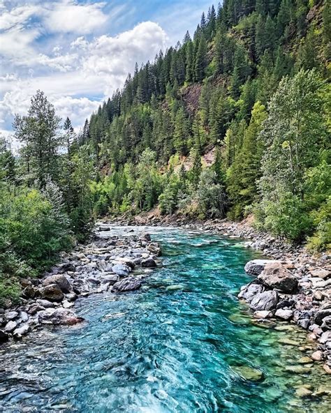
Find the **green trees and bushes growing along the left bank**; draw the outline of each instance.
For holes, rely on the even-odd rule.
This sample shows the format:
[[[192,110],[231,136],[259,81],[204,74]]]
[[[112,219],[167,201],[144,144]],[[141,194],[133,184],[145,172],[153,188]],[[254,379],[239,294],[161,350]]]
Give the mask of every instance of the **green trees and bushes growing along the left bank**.
[[[0,306],[17,301],[20,278],[38,276],[93,223],[94,160],[71,121],[62,125],[38,91],[13,128],[20,156],[0,137]]]

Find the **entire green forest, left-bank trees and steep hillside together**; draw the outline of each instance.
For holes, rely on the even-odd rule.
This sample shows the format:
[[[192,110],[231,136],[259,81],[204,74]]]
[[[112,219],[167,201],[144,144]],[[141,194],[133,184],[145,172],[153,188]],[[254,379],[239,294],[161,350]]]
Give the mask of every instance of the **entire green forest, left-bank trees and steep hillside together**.
[[[78,135],[38,91],[13,123],[20,156],[0,145],[0,303],[106,214],[253,214],[330,248],[330,13],[329,0],[211,6]]]

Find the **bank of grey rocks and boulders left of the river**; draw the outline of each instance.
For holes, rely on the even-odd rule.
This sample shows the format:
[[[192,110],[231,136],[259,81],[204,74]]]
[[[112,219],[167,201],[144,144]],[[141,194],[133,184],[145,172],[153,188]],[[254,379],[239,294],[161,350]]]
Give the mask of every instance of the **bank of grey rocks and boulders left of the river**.
[[[20,306],[0,309],[0,343],[21,339],[45,325],[84,322],[73,310],[75,300],[92,293],[114,294],[138,290],[157,264],[161,250],[149,234],[101,236],[110,230],[96,227],[87,245],[80,245],[43,278],[22,280]]]

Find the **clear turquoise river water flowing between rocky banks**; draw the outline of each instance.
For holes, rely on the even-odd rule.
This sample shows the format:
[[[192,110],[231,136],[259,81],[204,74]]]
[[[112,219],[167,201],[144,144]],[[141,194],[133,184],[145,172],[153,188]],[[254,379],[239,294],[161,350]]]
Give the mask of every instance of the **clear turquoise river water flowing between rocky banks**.
[[[253,324],[237,301],[258,255],[212,234],[149,231],[163,266],[142,290],[80,299],[86,323],[0,347],[0,411],[327,412],[328,396],[295,396],[295,386],[330,384],[321,367],[286,371],[304,353],[279,340],[307,345],[304,333]],[[244,380],[240,366],[264,380]]]

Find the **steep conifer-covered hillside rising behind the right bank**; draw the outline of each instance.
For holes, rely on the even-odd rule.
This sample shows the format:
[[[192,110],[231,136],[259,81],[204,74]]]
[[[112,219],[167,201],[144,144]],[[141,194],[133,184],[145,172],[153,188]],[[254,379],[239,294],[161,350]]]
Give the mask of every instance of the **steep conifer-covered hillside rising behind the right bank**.
[[[86,121],[94,211],[241,219],[330,247],[330,2],[226,0]],[[203,155],[211,153],[212,167]]]

